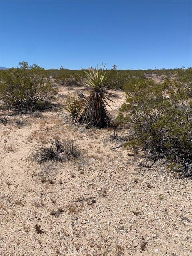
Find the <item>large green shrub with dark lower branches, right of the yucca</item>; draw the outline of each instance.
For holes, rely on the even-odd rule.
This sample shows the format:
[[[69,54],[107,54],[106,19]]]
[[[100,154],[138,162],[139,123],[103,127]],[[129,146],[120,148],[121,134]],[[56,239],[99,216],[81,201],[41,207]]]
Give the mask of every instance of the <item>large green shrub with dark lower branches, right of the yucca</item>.
[[[125,147],[138,147],[154,160],[164,159],[176,171],[191,175],[191,102],[181,82],[156,84],[132,79],[116,122],[130,128]]]

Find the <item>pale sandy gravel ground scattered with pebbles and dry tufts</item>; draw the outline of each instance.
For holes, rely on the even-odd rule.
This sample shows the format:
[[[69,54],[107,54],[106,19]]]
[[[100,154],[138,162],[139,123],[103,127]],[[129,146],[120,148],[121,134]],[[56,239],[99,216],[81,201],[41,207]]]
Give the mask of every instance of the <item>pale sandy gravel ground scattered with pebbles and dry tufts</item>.
[[[125,95],[113,93],[116,116]],[[0,124],[0,255],[191,255],[191,180],[112,150],[112,133],[74,126],[63,110]],[[74,140],[79,158],[37,164],[35,146],[55,136]]]

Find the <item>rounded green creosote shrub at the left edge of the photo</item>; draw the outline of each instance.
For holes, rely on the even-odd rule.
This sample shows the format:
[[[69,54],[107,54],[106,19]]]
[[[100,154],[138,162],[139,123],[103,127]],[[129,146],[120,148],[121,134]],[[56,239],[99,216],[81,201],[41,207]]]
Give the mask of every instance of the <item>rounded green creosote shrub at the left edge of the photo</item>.
[[[25,112],[51,104],[53,89],[42,68],[11,68],[0,73],[0,80],[0,103],[6,108]]]

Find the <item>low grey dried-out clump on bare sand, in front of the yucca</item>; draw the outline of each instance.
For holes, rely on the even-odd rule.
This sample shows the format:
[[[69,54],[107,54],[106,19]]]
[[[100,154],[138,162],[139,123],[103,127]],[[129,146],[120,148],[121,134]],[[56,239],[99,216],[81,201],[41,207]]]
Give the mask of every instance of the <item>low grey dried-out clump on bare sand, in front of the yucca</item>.
[[[65,160],[74,160],[79,155],[80,152],[74,141],[61,142],[60,139],[54,139],[49,143],[49,146],[38,146],[33,157],[41,164],[47,161],[63,162]]]

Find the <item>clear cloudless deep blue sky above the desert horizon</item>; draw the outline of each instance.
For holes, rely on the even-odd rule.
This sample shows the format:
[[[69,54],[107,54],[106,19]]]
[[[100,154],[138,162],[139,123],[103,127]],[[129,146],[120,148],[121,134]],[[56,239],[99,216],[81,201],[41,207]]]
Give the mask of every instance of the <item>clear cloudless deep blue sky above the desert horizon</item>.
[[[0,66],[191,66],[191,1],[1,1]]]

